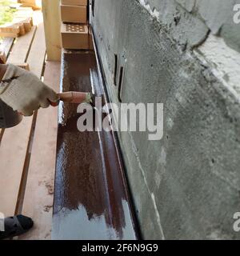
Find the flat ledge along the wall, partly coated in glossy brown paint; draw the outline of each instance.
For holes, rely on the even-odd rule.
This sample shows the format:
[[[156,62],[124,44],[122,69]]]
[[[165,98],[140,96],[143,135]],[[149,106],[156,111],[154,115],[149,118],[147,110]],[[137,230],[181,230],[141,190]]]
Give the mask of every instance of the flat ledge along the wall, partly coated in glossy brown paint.
[[[102,94],[93,53],[63,54],[62,90]],[[103,97],[105,98],[105,97]],[[53,239],[136,239],[118,147],[111,132],[79,132],[76,104],[61,102]]]

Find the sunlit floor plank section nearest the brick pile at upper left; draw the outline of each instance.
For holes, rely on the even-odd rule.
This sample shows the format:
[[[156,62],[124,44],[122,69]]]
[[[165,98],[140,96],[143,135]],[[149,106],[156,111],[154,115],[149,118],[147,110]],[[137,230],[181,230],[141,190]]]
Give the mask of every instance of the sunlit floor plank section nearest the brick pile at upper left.
[[[7,63],[26,62],[36,29],[37,27],[33,26],[29,33],[15,39],[15,44],[7,59]]]

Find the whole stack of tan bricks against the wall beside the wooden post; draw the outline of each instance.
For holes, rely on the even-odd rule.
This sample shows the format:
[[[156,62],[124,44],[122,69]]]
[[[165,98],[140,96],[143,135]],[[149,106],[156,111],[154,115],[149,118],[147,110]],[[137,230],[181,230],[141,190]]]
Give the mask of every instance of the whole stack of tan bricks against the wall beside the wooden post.
[[[88,0],[62,0],[62,47],[70,50],[93,48],[88,26]]]

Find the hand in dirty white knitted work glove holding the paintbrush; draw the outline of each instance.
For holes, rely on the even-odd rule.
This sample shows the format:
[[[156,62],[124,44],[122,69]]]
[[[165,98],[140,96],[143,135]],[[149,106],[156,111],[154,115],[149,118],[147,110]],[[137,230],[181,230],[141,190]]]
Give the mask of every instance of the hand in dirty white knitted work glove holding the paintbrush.
[[[39,107],[47,108],[50,102],[58,102],[58,95],[37,76],[14,65],[8,65],[0,82],[0,98],[8,106],[25,116]]]

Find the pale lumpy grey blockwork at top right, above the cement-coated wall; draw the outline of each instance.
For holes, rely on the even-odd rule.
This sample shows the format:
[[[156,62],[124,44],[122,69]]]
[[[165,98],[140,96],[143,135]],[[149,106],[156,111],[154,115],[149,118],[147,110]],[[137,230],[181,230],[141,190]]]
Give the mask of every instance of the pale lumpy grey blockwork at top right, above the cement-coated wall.
[[[240,51],[240,26],[234,24],[234,5],[240,0],[139,0],[154,13],[168,33],[186,46],[204,41],[209,30]],[[176,29],[177,26],[177,29]]]

